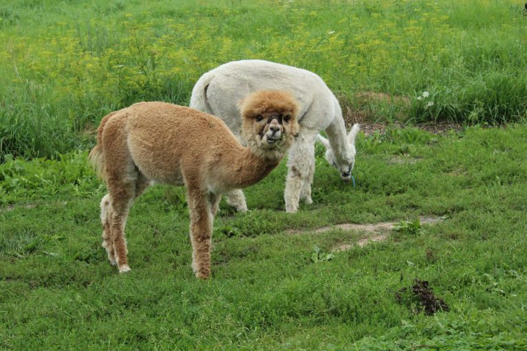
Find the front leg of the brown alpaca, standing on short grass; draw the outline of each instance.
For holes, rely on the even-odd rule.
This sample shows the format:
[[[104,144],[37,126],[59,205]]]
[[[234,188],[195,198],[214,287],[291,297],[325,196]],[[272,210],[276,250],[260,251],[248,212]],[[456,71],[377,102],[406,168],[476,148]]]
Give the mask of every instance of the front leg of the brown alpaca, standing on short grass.
[[[192,269],[197,278],[206,279],[211,274],[211,244],[213,214],[206,194],[189,190],[191,212]]]

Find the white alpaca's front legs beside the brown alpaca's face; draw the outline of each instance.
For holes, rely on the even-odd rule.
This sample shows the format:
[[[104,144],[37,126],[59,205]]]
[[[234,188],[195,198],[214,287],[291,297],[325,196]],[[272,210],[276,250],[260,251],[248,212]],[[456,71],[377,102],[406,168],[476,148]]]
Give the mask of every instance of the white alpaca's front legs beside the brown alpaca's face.
[[[286,212],[297,212],[304,187],[308,187],[305,188],[304,194],[307,194],[309,190],[309,195],[311,195],[312,175],[310,174],[314,168],[314,141],[317,133],[318,131],[309,129],[300,131],[299,138],[289,152],[286,191],[283,195],[286,201]]]

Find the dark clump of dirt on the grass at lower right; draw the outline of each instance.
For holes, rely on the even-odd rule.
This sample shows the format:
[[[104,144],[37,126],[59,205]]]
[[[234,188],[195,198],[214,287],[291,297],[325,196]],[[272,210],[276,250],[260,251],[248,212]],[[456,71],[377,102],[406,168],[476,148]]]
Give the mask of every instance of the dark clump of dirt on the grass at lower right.
[[[409,304],[414,313],[424,310],[427,315],[433,315],[437,312],[450,310],[449,305],[441,297],[436,297],[433,294],[432,289],[429,288],[429,283],[419,278],[416,278],[410,288],[400,288],[396,293],[396,298],[399,304]],[[416,305],[420,306],[419,310],[414,308]]]

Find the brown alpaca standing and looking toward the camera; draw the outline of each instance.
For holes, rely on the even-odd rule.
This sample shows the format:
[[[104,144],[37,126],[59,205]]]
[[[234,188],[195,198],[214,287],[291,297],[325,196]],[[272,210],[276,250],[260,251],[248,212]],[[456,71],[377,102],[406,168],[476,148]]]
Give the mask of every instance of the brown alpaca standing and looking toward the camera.
[[[151,183],[186,186],[192,267],[211,273],[213,219],[221,195],[266,177],[297,135],[297,102],[282,91],[259,91],[240,104],[241,146],[219,118],[165,102],[140,102],[100,122],[89,153],[108,192],[100,203],[103,247],[120,273],[130,270],[125,225],[129,208]]]

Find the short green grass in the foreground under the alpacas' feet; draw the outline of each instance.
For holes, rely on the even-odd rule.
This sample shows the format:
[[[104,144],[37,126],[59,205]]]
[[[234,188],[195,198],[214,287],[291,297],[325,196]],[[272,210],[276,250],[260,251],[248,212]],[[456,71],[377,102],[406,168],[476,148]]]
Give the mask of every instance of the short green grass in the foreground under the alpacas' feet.
[[[132,207],[132,271],[118,275],[100,247],[105,191],[86,153],[8,161],[0,349],[525,350],[526,135],[521,124],[361,133],[356,188],[317,146],[313,205],[282,211],[284,163],[248,188],[252,211],[222,203],[206,282],[192,275],[181,188],[153,187]],[[310,229],[420,215],[447,219],[312,260],[315,246],[324,258],[364,234]],[[397,291],[415,278],[450,311],[428,316],[399,304]]]

